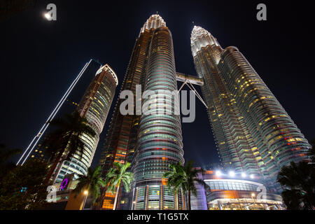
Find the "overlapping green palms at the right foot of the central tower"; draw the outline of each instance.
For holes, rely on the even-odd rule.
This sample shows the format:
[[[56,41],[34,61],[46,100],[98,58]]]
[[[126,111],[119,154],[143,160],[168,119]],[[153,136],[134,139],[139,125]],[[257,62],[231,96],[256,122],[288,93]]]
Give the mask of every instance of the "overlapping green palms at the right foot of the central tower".
[[[195,182],[200,183],[204,188],[209,188],[207,183],[204,183],[202,179],[199,179],[200,174],[204,174],[204,169],[194,169],[193,161],[186,163],[186,166],[183,167],[181,163],[176,165],[169,165],[169,168],[172,169],[171,172],[166,172],[163,175],[163,178],[167,178],[167,186],[169,189],[173,188],[174,192],[178,192],[179,189],[182,189],[184,193],[188,192],[188,209],[191,210],[190,196],[197,196],[197,189]]]

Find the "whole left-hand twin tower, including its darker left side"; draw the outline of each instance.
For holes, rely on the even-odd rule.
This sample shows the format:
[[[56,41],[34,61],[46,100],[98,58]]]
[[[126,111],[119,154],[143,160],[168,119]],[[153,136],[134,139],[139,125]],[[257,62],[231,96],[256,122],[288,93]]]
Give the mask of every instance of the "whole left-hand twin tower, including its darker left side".
[[[141,27],[121,90],[132,90],[135,96],[136,85],[141,85],[140,94],[144,90],[159,91],[160,96],[171,102],[167,106],[165,101],[156,102],[157,111],[159,108],[172,110],[174,98],[163,93],[177,90],[172,34],[160,15],[151,15]],[[146,99],[143,103],[152,100]],[[182,194],[172,195],[165,188],[166,180],[162,179],[169,163],[183,162],[179,116],[140,116],[136,109],[134,115],[123,116],[119,111],[123,101],[118,99],[116,104],[100,160],[104,174],[113,167],[113,162],[132,162],[135,180],[132,195],[120,194],[118,208],[183,208]],[[113,209],[113,197],[110,193],[104,195],[102,209]]]

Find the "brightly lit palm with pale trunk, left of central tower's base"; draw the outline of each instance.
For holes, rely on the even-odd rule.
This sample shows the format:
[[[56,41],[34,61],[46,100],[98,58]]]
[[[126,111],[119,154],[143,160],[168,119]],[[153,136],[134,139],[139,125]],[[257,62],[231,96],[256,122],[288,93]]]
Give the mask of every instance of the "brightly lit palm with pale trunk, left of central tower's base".
[[[134,174],[132,174],[132,172],[126,172],[127,168],[130,167],[130,165],[130,162],[125,162],[125,164],[121,164],[120,162],[113,162],[113,167],[109,169],[109,172],[106,174],[106,192],[109,191],[113,194],[113,192],[115,192],[117,188],[113,210],[116,209],[121,182],[123,182],[123,186],[126,192],[130,192],[130,185],[132,183],[132,179],[134,179]]]

